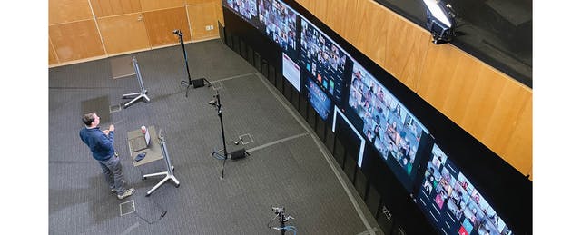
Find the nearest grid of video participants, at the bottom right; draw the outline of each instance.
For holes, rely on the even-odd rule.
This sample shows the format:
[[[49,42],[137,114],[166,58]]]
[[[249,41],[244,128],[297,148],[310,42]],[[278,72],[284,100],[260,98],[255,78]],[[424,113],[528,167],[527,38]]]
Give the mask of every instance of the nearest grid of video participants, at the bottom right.
[[[438,145],[432,149],[420,191],[419,203],[442,230],[459,234],[512,234]]]

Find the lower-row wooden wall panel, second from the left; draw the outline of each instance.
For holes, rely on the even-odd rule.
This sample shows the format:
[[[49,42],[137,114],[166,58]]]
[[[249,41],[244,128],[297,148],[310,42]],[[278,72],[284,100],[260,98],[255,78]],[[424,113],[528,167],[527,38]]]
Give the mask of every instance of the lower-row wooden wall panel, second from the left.
[[[143,15],[117,15],[97,20],[107,54],[150,48]]]

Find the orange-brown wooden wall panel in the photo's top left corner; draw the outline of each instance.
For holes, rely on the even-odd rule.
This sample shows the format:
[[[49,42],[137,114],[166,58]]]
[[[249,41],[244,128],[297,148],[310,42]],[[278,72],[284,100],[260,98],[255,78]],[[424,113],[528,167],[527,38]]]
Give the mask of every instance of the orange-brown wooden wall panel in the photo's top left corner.
[[[49,0],[48,24],[62,24],[93,18],[88,1]]]

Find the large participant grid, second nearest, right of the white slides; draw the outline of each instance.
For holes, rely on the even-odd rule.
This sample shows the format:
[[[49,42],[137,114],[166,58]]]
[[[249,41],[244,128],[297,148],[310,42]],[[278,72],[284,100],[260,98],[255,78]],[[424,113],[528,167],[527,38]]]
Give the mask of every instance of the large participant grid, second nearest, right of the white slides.
[[[363,133],[387,161],[394,158],[408,173],[422,132],[428,132],[389,91],[353,62],[349,105],[363,120]]]

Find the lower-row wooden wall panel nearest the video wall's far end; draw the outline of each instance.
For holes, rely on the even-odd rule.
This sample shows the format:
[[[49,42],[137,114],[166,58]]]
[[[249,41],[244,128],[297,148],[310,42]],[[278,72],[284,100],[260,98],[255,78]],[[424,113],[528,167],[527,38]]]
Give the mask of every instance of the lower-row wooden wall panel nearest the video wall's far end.
[[[218,34],[218,19],[214,12],[215,4],[188,5],[188,15],[190,16],[190,27],[192,28],[193,40],[202,40],[220,36]],[[206,30],[207,25],[212,25],[212,30]]]

